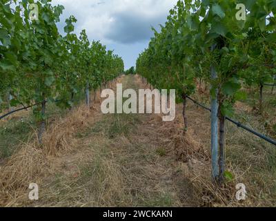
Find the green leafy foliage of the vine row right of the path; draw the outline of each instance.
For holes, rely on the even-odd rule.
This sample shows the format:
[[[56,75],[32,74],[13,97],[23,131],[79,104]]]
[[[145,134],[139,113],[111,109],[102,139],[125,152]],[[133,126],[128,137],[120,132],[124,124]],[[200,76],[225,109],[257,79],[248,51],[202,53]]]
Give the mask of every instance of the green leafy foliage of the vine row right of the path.
[[[248,10],[246,21],[236,19],[238,3]],[[195,92],[196,79],[204,80],[218,89],[220,112],[232,115],[235,102],[246,97],[243,83],[259,86],[275,75],[276,19],[271,12],[276,13],[273,0],[178,1],[139,55],[137,73],[156,88],[177,89],[180,100]]]

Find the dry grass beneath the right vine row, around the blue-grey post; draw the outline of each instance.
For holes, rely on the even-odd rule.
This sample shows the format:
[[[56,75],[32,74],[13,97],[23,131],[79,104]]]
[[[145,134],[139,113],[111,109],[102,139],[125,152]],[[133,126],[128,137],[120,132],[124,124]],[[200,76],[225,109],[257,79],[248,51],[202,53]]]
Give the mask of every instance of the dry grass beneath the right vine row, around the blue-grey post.
[[[208,100],[202,95],[200,99],[201,102]],[[252,108],[248,104],[238,102],[236,108],[239,116],[248,118],[245,124],[250,122],[253,128],[265,131],[262,120],[250,117]],[[210,179],[210,113],[189,103],[189,129],[184,133],[181,112],[182,106],[177,105],[174,122],[162,122],[161,116],[157,116],[156,120],[160,125],[158,130],[168,135],[168,145],[173,146],[179,170],[187,178],[197,206],[275,206],[275,148],[228,124],[226,171],[232,173],[233,180],[228,180],[224,186],[217,186]],[[235,186],[239,183],[245,184],[247,191],[247,199],[241,202],[236,199]]]

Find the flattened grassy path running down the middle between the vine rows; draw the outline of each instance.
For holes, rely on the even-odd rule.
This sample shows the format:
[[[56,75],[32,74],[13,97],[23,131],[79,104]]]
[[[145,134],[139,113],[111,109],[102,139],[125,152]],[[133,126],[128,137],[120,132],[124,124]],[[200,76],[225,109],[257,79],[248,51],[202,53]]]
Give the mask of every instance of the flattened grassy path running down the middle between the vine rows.
[[[124,89],[143,87],[138,77]],[[189,182],[156,115],[102,115],[77,133],[31,206],[194,206]]]

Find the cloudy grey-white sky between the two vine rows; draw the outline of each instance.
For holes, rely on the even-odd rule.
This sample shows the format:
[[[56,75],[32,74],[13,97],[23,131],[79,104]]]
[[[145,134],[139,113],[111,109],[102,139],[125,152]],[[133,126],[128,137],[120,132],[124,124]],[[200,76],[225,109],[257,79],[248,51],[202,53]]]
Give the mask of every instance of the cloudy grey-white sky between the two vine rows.
[[[135,66],[136,59],[148,47],[151,26],[166,21],[177,0],[53,0],[65,7],[59,30],[70,15],[77,18],[75,32],[86,29],[90,39],[101,41],[124,59],[125,68]]]

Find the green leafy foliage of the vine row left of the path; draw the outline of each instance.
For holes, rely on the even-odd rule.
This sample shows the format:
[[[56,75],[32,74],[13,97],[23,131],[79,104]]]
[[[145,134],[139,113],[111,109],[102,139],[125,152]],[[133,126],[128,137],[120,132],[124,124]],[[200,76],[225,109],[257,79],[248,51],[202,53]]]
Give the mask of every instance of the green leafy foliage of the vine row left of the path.
[[[11,3],[15,7],[11,8]],[[62,100],[72,106],[72,97],[88,86],[101,84],[124,72],[123,60],[100,42],[88,41],[86,31],[75,35],[75,17],[66,19],[62,37],[56,23],[63,6],[41,0],[37,20],[30,20],[33,0],[0,2],[0,98],[14,97],[13,103],[28,105]],[[1,111],[1,109],[0,109]],[[36,108],[35,113],[40,109]]]

